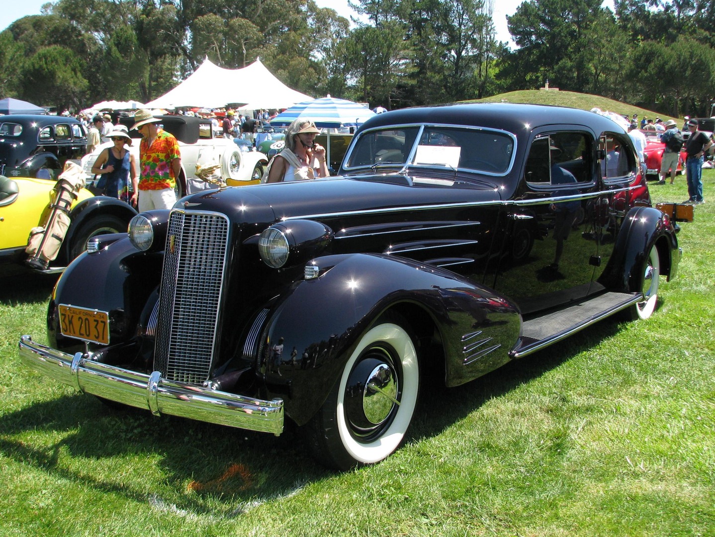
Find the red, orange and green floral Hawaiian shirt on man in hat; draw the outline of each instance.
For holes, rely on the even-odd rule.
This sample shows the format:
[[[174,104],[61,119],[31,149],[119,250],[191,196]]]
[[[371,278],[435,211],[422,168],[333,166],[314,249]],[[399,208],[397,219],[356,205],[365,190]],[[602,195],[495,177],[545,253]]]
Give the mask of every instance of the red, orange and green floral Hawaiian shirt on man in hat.
[[[147,139],[139,144],[139,190],[161,190],[174,188],[172,160],[181,158],[179,142],[164,129],[157,130],[152,147]]]

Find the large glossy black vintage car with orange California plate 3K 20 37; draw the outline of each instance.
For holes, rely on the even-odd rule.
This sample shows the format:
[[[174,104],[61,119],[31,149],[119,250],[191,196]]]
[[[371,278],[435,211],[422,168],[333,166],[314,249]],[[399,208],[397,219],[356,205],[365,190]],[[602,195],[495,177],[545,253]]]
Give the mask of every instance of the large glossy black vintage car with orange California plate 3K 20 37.
[[[25,336],[21,359],[155,415],[276,435],[288,418],[350,468],[398,448],[420,382],[649,317],[676,275],[674,224],[597,114],[388,112],[340,174],[193,194],[96,237],[56,286],[49,345]]]

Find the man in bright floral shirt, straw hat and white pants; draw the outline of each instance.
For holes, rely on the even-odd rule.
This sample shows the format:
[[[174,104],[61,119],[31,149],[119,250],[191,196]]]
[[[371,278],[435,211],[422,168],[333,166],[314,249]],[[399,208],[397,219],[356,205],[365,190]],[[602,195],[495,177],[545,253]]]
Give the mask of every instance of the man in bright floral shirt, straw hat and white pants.
[[[132,203],[139,198],[139,212],[171,209],[177,200],[174,187],[181,171],[181,153],[177,139],[157,127],[161,119],[150,110],[134,115],[134,127],[142,134],[139,143],[139,177],[134,179]]]

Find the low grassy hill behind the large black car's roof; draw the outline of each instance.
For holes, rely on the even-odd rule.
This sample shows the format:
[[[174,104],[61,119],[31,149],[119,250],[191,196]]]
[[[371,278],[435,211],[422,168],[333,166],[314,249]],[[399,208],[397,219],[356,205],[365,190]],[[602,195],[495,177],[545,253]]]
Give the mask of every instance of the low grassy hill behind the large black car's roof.
[[[587,93],[576,93],[576,92],[561,92],[556,90],[543,91],[538,89],[528,89],[521,92],[508,92],[498,95],[493,95],[492,97],[486,97],[485,99],[476,99],[470,102],[521,102],[526,104],[553,104],[560,107],[571,107],[580,108],[583,110],[590,110],[593,107],[600,108],[601,110],[610,110],[611,112],[616,112],[616,114],[628,115],[628,117],[633,117],[633,114],[638,114],[638,119],[643,116],[656,119],[660,117],[663,121],[668,121],[669,119],[674,119],[675,122],[681,127],[682,118],[666,116],[664,114],[658,114],[652,110],[646,110],[644,108],[634,107],[632,104],[628,104],[621,101],[614,101],[613,99],[608,99],[607,97],[601,97],[600,95],[591,95]]]

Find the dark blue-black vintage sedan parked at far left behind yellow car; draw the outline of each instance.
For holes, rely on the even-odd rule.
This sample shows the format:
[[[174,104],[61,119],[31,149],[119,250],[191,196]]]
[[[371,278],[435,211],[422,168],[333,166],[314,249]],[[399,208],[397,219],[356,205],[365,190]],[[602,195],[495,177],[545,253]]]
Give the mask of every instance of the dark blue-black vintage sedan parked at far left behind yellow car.
[[[0,116],[0,175],[57,179],[86,152],[87,130],[74,117]]]

